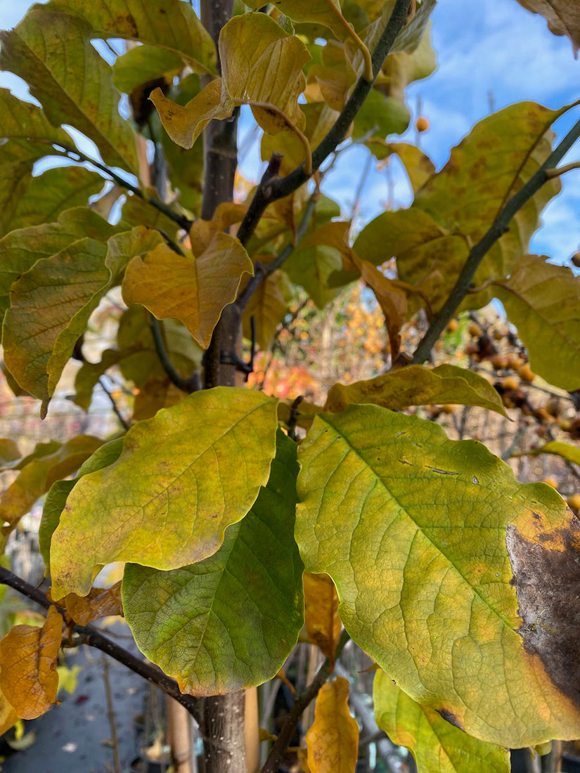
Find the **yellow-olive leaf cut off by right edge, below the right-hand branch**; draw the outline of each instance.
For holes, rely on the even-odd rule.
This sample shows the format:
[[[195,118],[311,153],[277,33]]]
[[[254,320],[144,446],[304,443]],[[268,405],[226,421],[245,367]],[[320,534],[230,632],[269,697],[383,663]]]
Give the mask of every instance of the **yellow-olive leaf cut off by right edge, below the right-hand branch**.
[[[580,387],[580,278],[545,257],[520,257],[495,295],[527,347],[534,373],[565,390]]]

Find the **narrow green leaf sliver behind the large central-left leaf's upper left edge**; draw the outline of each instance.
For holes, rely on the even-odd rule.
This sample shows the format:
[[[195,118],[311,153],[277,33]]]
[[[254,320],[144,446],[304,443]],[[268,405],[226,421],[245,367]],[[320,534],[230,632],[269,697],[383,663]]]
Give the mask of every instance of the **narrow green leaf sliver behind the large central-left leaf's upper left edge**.
[[[54,530],[60,523],[60,513],[67,504],[67,497],[74,486],[84,475],[96,472],[118,460],[123,450],[123,438],[117,438],[97,448],[87,461],[80,467],[79,473],[72,481],[56,481],[50,487],[43,507],[43,516],[39,526],[39,553],[43,557],[46,566],[46,576],[50,574],[50,540]]]

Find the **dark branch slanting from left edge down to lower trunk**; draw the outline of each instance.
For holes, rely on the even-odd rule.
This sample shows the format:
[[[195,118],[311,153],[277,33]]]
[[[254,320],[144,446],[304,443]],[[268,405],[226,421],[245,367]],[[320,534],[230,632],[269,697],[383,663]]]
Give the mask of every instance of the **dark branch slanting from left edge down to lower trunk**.
[[[9,585],[18,591],[22,595],[29,598],[31,601],[35,601],[41,607],[48,609],[50,606],[63,610],[63,607],[58,602],[49,601],[43,591],[23,580],[22,577],[18,577],[16,574],[12,574],[8,569],[0,567],[0,584]],[[171,679],[170,676],[165,676],[161,669],[154,666],[152,663],[145,662],[144,660],[136,657],[128,650],[119,646],[116,642],[111,641],[110,638],[104,636],[97,628],[92,625],[75,625],[73,628],[74,633],[77,635],[75,643],[88,644],[95,649],[100,649],[101,652],[105,652],[118,662],[127,666],[128,669],[134,671],[139,676],[147,679],[148,682],[155,684],[164,693],[175,698],[178,703],[186,707],[190,714],[193,715],[197,700],[191,695],[183,695],[180,692],[179,687],[175,679]]]

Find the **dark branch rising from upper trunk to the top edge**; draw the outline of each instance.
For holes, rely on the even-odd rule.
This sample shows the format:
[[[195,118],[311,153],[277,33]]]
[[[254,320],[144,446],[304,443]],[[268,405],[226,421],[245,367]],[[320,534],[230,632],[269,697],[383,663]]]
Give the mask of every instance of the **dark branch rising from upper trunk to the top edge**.
[[[363,106],[364,100],[367,99],[367,96],[374,85],[374,80],[376,79],[381,66],[383,66],[384,60],[387,58],[387,54],[391,50],[395,38],[399,32],[401,32],[401,29],[407,20],[410,8],[411,0],[396,0],[391,19],[389,19],[383,34],[380,36],[377,47],[374,49],[371,57],[373,63],[373,80],[366,80],[366,78],[362,76],[357,81],[353,93],[350,95],[349,100],[343,107],[339,117],[336,118],[333,127],[320,142],[320,145],[312,152],[312,172],[316,172],[319,169],[322,162],[328,158],[328,156],[336,149],[336,146],[346,137],[350,124],[353,122],[360,107]],[[241,226],[237,231],[237,238],[241,243],[245,245],[252,233],[254,233],[255,227],[258,225],[258,221],[268,204],[277,199],[283,199],[285,196],[289,196],[307,182],[311,176],[312,175],[305,172],[304,164],[301,164],[294,172],[291,172],[286,177],[271,179],[267,181],[267,183],[263,182],[262,179],[254,194],[254,199],[252,199],[247,210],[246,216],[244,217],[244,220],[242,220]]]

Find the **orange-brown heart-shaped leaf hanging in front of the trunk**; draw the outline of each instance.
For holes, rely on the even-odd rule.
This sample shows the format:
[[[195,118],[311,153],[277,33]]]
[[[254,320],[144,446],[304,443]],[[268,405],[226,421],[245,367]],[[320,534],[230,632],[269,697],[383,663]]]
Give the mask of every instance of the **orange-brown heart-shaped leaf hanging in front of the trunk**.
[[[160,244],[136,257],[125,271],[125,303],[140,303],[158,319],[179,319],[207,349],[223,308],[235,300],[244,273],[254,266],[241,243],[217,233],[199,257],[176,254]]]

